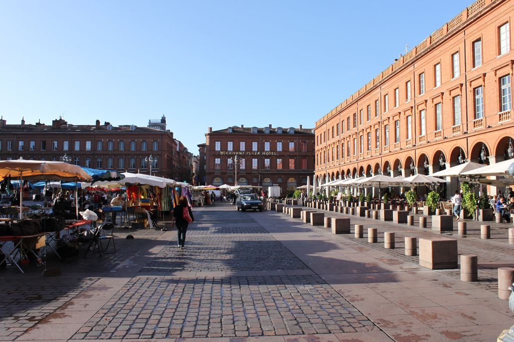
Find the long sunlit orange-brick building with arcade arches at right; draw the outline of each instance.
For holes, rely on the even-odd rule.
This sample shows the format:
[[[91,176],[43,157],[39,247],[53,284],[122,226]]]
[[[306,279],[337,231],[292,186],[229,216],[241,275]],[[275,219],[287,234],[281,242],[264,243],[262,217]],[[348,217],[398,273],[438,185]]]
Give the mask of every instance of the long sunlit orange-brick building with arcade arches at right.
[[[317,179],[512,158],[513,14],[514,1],[476,1],[319,119]]]

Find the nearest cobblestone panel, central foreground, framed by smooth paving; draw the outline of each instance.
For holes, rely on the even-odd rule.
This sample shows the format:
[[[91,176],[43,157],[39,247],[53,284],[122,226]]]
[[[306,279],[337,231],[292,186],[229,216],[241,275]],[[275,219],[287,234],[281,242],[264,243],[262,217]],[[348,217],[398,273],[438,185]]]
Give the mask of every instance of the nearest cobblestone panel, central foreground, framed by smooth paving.
[[[138,277],[74,338],[326,334],[377,329],[318,276]]]

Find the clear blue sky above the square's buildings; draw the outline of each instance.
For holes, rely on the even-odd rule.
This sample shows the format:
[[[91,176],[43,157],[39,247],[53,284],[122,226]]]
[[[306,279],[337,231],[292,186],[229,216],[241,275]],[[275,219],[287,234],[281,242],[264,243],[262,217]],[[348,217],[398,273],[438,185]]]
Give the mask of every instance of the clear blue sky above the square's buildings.
[[[194,154],[210,126],[313,127],[471,3],[2,0],[0,114],[138,126],[164,114]]]

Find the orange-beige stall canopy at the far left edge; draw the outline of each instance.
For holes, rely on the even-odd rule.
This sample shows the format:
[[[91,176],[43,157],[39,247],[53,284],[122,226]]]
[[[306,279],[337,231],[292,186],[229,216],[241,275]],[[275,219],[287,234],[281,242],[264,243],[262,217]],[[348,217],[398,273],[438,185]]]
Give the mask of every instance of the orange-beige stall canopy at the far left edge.
[[[58,161],[44,160],[1,160],[0,180],[7,176],[21,177],[30,181],[91,181],[80,166]]]

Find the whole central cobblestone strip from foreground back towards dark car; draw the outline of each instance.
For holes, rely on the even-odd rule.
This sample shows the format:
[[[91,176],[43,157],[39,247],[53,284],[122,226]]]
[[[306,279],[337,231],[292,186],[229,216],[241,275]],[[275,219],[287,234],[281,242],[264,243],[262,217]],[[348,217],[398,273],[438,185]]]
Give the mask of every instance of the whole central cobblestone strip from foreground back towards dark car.
[[[177,249],[176,239],[164,246],[74,338],[244,337],[377,329],[319,276],[310,274],[252,214],[259,215],[196,212],[186,250]],[[306,274],[272,275],[287,270]],[[173,271],[196,276],[144,275]],[[201,276],[219,271],[263,275]]]

